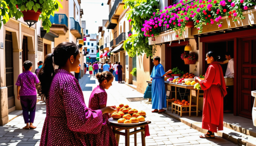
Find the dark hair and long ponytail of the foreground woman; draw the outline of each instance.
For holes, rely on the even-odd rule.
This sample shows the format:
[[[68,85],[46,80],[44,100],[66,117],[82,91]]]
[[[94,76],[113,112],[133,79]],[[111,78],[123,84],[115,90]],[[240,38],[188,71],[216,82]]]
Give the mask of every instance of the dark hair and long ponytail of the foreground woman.
[[[38,93],[40,96],[47,98],[48,92],[51,87],[52,79],[55,75],[54,65],[63,67],[66,65],[67,60],[73,55],[76,59],[79,50],[74,43],[63,42],[60,43],[52,54],[46,55],[44,64],[38,74],[40,83],[37,85]]]

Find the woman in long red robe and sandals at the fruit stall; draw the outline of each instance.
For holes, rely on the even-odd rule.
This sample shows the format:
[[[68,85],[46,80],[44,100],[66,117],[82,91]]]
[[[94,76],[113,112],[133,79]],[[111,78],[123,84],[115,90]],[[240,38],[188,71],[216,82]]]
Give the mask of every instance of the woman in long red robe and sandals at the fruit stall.
[[[215,138],[214,132],[217,132],[217,129],[223,130],[223,97],[227,91],[222,68],[217,59],[219,57],[214,51],[208,52],[206,61],[210,65],[205,73],[205,79],[195,77],[195,81],[200,83],[204,90],[202,128],[208,130],[200,138]]]

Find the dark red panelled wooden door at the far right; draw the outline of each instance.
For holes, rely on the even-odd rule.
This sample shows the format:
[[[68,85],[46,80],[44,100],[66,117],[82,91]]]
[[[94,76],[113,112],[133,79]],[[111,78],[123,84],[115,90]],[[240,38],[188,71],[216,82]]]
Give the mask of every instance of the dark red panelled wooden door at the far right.
[[[256,37],[240,39],[239,47],[239,116],[252,119],[254,97],[251,91],[256,90]]]

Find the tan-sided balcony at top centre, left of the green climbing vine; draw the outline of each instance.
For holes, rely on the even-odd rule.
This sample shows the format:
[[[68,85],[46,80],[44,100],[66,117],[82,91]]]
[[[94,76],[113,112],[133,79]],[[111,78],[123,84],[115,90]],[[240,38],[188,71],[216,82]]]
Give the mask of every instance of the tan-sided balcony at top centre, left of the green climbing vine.
[[[114,5],[108,15],[108,27],[107,29],[114,29],[117,25],[117,19],[120,14],[123,12],[124,3],[122,0],[115,0]]]

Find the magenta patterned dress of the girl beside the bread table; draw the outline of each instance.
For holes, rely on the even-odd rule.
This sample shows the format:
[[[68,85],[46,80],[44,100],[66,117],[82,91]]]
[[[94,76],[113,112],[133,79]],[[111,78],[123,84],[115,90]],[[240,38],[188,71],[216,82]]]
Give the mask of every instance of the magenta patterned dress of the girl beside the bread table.
[[[100,109],[100,105],[107,104],[107,93],[101,86],[97,86],[93,89],[90,100],[89,108],[93,110]],[[103,123],[101,132],[99,134],[87,134],[87,137],[93,137],[93,141],[90,141],[92,146],[117,146],[115,135],[112,131],[112,127],[108,125],[108,114],[103,114]]]

